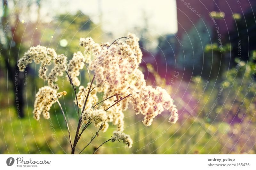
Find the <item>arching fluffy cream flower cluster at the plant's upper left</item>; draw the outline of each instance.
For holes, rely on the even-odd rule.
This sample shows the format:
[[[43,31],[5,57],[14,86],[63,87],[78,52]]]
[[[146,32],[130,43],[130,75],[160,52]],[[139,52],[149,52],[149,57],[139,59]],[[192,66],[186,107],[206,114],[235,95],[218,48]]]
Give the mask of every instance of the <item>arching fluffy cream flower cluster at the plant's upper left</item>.
[[[51,65],[51,61],[54,60],[53,69],[47,75],[47,66]],[[20,71],[24,71],[26,66],[34,61],[36,64],[41,63],[39,68],[39,77],[48,81],[48,85],[56,90],[59,89],[57,84],[54,84],[58,80],[58,76],[62,76],[63,72],[67,69],[67,57],[63,54],[57,55],[54,49],[46,48],[43,46],[31,47],[20,58],[18,62],[18,68]]]

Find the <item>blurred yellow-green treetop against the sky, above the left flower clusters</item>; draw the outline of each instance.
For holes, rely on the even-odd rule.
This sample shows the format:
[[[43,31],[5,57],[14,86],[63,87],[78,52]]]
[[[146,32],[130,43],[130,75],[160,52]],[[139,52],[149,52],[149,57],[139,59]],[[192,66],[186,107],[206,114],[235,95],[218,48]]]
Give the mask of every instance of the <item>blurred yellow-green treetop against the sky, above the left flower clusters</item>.
[[[58,54],[67,55],[68,58],[71,58],[74,52],[82,50],[77,48],[81,37],[92,37],[101,41],[99,37],[102,34],[100,25],[94,24],[91,18],[81,11],[77,11],[75,15],[60,14],[51,23],[38,29],[43,31],[43,46],[55,48]]]

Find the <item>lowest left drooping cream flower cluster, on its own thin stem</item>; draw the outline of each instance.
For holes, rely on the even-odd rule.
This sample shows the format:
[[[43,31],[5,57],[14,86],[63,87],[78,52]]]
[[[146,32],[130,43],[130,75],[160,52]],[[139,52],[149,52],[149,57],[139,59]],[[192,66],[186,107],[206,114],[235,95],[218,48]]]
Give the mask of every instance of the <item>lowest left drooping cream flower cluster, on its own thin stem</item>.
[[[34,103],[34,118],[39,120],[40,115],[43,115],[45,119],[50,118],[49,110],[57,99],[61,96],[65,96],[66,91],[57,93],[56,90],[52,89],[49,86],[44,86],[39,89],[36,93],[36,100]]]

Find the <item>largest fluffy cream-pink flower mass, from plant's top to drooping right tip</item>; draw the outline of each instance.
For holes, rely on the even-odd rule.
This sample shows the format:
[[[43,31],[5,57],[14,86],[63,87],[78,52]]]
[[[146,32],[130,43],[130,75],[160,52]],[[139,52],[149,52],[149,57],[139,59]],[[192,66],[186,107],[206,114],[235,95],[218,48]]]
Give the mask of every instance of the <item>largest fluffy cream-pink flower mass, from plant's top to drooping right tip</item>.
[[[118,125],[119,131],[123,131],[123,111],[127,109],[129,102],[136,114],[145,115],[143,123],[146,126],[151,125],[153,119],[164,109],[171,112],[169,122],[177,122],[177,109],[171,96],[161,87],[147,86],[144,75],[139,70],[142,57],[139,38],[131,33],[125,38],[125,43],[103,43],[100,46],[91,38],[80,39],[85,51],[88,53],[91,50],[94,55],[89,69],[95,72],[98,92],[104,92],[104,98],[115,96],[105,100],[102,105],[107,110],[108,122],[113,122]],[[120,96],[129,96],[129,99]],[[116,105],[112,106],[114,103]]]

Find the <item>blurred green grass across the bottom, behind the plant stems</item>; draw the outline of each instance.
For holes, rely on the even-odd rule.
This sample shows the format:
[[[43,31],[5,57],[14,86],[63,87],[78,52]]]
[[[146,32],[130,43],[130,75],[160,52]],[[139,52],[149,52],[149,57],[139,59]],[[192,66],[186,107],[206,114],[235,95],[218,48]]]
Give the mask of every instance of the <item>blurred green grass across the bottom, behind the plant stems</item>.
[[[4,87],[4,81],[0,81],[0,87]],[[33,89],[35,87],[27,87]],[[76,105],[73,104],[71,88],[64,100],[60,100],[64,111],[68,113],[67,119],[74,140],[77,127]],[[25,98],[28,106],[25,109],[25,118],[19,119],[12,103],[13,93],[9,91],[9,101],[6,100],[7,92],[0,93],[0,154],[70,154],[68,131],[57,104],[53,105],[50,114],[51,120],[43,117],[39,121],[33,118],[34,90],[29,90]],[[31,93],[31,94],[30,94]],[[64,105],[65,104],[65,105]],[[9,107],[10,106],[10,107]],[[104,144],[96,153],[98,154],[228,154],[250,153],[255,154],[255,125],[253,122],[242,122],[229,125],[226,122],[214,122],[213,124],[194,121],[189,115],[182,115],[176,124],[167,122],[168,115],[159,115],[151,126],[145,127],[142,123],[143,115],[134,115],[134,112],[125,113],[125,130],[133,139],[132,148],[126,149],[123,143],[116,141]],[[212,113],[212,116],[215,113]],[[217,114],[217,113],[216,113]],[[200,115],[199,122],[204,122]],[[51,124],[52,122],[52,124]],[[237,134],[232,131],[237,129]],[[91,154],[104,141],[109,139],[116,126],[111,125],[107,132],[100,131],[99,138],[85,150],[85,154]],[[97,128],[91,125],[84,131],[77,144],[81,150],[90,141]],[[207,133],[206,133],[207,131]],[[73,142],[73,141],[72,141]],[[76,151],[76,153],[79,153]]]

